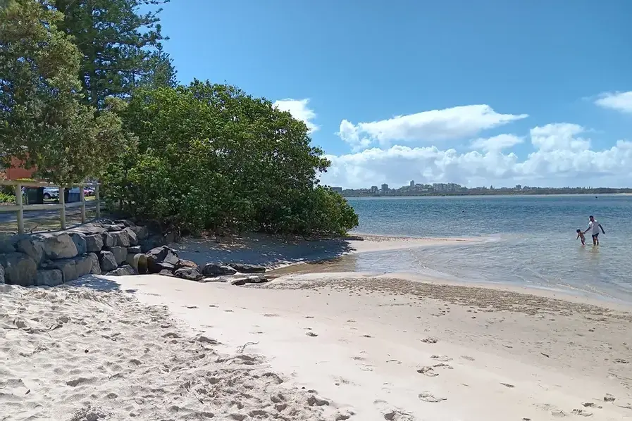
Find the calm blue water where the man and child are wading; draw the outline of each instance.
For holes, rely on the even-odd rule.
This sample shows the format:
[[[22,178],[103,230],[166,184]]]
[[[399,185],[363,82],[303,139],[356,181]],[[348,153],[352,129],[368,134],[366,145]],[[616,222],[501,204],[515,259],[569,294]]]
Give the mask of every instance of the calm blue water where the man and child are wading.
[[[632,196],[349,199],[364,234],[478,237],[476,244],[362,253],[354,268],[517,284],[632,303]],[[576,240],[594,215],[606,234]]]

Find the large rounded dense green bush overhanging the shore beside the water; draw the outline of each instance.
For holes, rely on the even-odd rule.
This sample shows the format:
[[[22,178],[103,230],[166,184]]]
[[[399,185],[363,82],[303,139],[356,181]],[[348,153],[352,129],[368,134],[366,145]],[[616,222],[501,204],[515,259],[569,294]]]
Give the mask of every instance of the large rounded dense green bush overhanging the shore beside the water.
[[[318,186],[330,165],[304,122],[235,87],[194,81],[141,90],[120,112],[130,143],[101,177],[139,218],[182,230],[344,234],[358,218]]]

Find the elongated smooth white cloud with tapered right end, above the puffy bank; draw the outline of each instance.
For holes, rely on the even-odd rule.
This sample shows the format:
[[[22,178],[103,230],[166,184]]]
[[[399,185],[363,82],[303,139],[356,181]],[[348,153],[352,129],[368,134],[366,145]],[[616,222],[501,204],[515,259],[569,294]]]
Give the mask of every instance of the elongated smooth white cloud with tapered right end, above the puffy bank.
[[[499,114],[488,105],[470,105],[397,115],[388,120],[340,122],[338,136],[353,149],[366,148],[373,142],[389,146],[392,142],[430,142],[471,137],[483,130],[505,125],[528,115]]]

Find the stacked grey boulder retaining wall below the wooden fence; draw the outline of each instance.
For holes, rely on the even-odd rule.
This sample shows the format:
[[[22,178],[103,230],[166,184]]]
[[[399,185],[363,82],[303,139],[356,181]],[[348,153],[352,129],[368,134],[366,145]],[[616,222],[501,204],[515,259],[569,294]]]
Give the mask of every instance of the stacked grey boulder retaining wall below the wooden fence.
[[[176,239],[174,233],[152,235],[128,220],[15,235],[0,241],[0,284],[54,287],[88,274],[133,275],[139,261],[146,271],[142,253]]]

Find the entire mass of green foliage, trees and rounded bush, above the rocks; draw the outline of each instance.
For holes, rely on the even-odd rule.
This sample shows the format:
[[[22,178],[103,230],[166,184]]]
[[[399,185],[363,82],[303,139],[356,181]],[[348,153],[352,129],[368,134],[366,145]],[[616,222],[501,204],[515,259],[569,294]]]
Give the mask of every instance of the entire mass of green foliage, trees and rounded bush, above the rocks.
[[[0,0],[2,1],[2,0]],[[168,0],[8,0],[0,8],[0,151],[69,184],[99,177],[121,211],[189,232],[345,234],[307,127],[235,87],[178,86]]]

